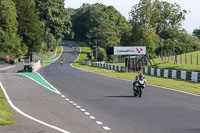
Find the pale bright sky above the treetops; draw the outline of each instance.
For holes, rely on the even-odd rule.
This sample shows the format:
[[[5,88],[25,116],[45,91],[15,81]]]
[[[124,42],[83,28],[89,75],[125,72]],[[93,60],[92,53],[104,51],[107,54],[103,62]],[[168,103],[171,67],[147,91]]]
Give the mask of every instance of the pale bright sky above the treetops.
[[[195,28],[200,28],[200,0],[160,0],[169,3],[177,3],[181,9],[190,11],[186,15],[186,20],[182,22],[182,27],[186,29],[189,34]],[[83,3],[95,4],[102,3],[106,6],[114,6],[127,20],[129,19],[129,12],[139,0],[65,0],[65,8],[77,9]]]

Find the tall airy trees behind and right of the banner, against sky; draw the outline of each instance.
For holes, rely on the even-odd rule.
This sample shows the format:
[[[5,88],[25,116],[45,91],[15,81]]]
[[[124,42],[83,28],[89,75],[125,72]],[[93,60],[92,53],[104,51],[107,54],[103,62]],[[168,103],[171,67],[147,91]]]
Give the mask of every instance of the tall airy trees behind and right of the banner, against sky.
[[[186,13],[187,11],[181,10],[176,3],[140,0],[139,4],[136,4],[130,12],[131,44],[147,46],[149,54],[153,54],[155,50],[156,53],[161,53],[163,39],[164,42],[177,40],[176,47],[179,47],[182,44],[179,37],[181,34],[185,34],[181,22],[185,19]]]

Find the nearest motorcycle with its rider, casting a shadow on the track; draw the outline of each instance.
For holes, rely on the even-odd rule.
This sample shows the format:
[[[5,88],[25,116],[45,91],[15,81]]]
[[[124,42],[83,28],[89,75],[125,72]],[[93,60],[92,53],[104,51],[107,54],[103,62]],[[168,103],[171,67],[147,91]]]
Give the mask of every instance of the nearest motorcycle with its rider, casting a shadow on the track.
[[[137,95],[139,97],[142,96],[142,89],[144,89],[145,87],[145,80],[144,79],[138,79],[135,83],[135,85],[133,85],[133,93],[134,96],[136,97]]]

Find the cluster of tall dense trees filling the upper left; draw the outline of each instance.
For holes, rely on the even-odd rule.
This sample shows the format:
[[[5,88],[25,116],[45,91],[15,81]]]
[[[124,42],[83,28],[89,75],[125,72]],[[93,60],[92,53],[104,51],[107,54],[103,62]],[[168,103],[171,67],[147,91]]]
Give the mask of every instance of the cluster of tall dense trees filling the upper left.
[[[54,50],[70,34],[64,0],[0,0],[0,52],[15,57]]]

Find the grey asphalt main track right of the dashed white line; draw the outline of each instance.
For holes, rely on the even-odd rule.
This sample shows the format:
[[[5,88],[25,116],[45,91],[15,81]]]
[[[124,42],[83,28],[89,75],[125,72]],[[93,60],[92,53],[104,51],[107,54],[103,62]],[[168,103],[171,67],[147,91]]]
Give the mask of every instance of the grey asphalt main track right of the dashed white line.
[[[199,96],[147,85],[141,98],[133,97],[129,81],[71,67],[77,56],[64,46],[64,65],[58,60],[40,73],[63,95],[110,127],[109,132],[200,133]]]

